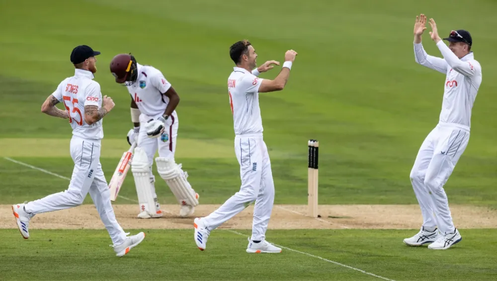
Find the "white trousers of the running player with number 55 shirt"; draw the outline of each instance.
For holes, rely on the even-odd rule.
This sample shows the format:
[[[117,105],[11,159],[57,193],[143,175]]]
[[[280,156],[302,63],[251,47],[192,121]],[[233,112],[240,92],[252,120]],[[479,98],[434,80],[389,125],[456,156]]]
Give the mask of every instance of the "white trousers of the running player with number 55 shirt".
[[[31,215],[36,215],[76,207],[83,203],[89,192],[112,242],[114,245],[119,245],[126,239],[126,233],[117,222],[110,203],[109,187],[100,165],[100,148],[100,141],[73,136],[70,150],[74,170],[69,188],[28,202],[25,210]]]

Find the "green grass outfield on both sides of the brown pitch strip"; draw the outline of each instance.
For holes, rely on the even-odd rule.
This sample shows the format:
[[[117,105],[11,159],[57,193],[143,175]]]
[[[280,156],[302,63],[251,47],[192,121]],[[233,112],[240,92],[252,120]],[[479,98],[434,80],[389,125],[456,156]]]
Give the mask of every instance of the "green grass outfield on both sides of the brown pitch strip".
[[[102,52],[95,80],[116,103],[103,121],[107,180],[129,148],[132,127],[130,96],[114,82],[109,63],[118,53],[132,52],[139,63],[162,70],[180,95],[176,161],[201,203],[224,202],[240,186],[226,86],[233,67],[229,46],[245,38],[258,64],[282,62],[288,49],[299,53],[285,90],[260,95],[275,203],[307,203],[306,143],[318,139],[320,204],[416,204],[409,174],[438,121],[444,82],[442,74],[414,62],[414,19],[425,13],[441,36],[469,30],[483,69],[469,146],[445,187],[449,203],[495,209],[496,10],[497,3],[488,0],[470,6],[463,0],[3,1],[0,204],[67,188],[71,128],[40,107],[74,74],[69,57],[80,44]],[[440,56],[428,31],[424,47]],[[276,67],[260,77],[272,79],[278,72]],[[154,173],[159,200],[174,203],[155,167]],[[131,176],[120,195],[136,199]],[[91,203],[89,196],[84,202]],[[117,259],[104,230],[34,229],[23,241],[16,229],[1,229],[0,280],[497,279],[495,229],[462,229],[463,241],[441,252],[403,245],[416,230],[271,230],[269,241],[307,253],[273,256],[246,254],[247,238],[226,230],[212,234],[204,253],[196,249],[192,231],[144,231],[143,245]]]

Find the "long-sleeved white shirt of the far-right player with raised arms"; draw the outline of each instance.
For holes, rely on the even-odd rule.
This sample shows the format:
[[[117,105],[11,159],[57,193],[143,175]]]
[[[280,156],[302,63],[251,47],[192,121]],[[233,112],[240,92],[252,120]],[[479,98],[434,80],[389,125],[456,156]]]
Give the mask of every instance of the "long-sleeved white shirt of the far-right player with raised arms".
[[[469,131],[471,110],[482,84],[482,67],[473,52],[459,59],[442,40],[436,45],[443,59],[426,54],[421,43],[414,43],[415,60],[446,75],[439,122],[456,124]]]

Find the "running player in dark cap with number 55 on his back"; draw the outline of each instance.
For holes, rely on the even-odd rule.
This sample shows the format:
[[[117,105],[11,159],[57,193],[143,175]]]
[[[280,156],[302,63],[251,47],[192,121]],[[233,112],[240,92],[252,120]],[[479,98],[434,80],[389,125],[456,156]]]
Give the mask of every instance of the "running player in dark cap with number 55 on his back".
[[[71,62],[76,68],[75,75],[64,79],[42,105],[44,113],[69,119],[73,128],[70,151],[74,170],[69,188],[35,201],[14,204],[12,211],[22,237],[28,239],[29,221],[35,215],[79,206],[89,193],[112,239],[111,246],[116,256],[121,257],[140,244],[145,233],[127,237],[117,222],[100,165],[102,118],[112,110],[114,102],[110,97],[102,97],[100,85],[92,80],[96,73],[95,56],[99,54],[86,45],[74,48]],[[66,110],[55,106],[59,102],[64,103]]]

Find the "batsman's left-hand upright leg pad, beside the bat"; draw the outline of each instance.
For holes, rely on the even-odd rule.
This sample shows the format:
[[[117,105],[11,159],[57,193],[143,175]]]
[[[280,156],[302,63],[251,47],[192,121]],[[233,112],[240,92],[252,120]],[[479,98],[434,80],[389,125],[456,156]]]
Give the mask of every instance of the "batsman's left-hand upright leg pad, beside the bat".
[[[136,193],[140,211],[147,211],[149,214],[156,213],[152,186],[150,184],[150,167],[147,154],[141,147],[135,148],[135,155],[131,162],[131,172],[135,179]]]

